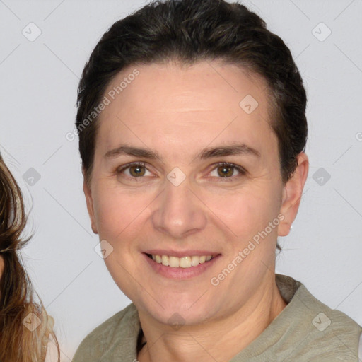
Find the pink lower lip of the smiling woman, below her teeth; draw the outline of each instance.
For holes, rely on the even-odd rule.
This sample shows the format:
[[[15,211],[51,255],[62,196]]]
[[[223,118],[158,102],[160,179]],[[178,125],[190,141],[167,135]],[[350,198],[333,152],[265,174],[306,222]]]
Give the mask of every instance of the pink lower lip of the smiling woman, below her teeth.
[[[156,263],[151,257],[148,257],[144,254],[146,258],[146,262],[151,266],[151,268],[156,271],[157,274],[165,276],[166,278],[170,279],[191,279],[194,276],[199,276],[200,274],[204,273],[207,269],[211,268],[216,259],[221,255],[217,255],[216,257],[209,260],[209,262],[204,262],[202,264],[197,265],[197,267],[189,267],[189,268],[172,268],[166,267],[163,264]]]

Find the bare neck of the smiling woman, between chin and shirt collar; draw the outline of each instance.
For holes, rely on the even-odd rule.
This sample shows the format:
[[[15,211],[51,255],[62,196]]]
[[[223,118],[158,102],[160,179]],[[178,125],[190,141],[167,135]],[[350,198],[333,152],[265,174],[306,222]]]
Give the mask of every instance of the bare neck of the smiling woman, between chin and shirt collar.
[[[259,292],[235,313],[223,320],[202,325],[184,325],[170,332],[152,324],[148,318],[140,322],[147,343],[139,351],[139,362],[163,361],[230,361],[245,349],[286,307],[275,283],[265,284]]]

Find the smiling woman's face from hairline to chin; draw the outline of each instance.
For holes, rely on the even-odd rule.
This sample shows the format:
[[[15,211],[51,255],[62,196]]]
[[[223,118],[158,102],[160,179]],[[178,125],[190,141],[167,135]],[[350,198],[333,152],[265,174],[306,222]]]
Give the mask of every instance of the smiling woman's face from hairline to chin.
[[[296,214],[266,83],[220,62],[152,64],[124,69],[105,96],[84,190],[110,274],[158,322],[231,315],[274,273]]]

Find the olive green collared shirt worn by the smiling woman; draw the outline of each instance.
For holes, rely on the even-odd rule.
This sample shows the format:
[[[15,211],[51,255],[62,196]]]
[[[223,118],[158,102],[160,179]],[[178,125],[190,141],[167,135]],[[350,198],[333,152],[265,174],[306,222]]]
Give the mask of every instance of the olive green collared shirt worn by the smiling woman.
[[[288,305],[230,362],[358,362],[361,326],[290,276],[276,274],[276,284]],[[141,335],[132,303],[88,334],[73,362],[134,362]]]

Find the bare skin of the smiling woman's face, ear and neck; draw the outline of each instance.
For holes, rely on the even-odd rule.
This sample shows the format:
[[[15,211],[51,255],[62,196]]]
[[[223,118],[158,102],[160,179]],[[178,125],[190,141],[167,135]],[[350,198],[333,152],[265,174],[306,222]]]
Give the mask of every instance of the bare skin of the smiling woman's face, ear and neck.
[[[217,61],[151,64],[124,69],[107,91],[135,68],[139,76],[100,115],[92,178],[83,184],[92,228],[112,245],[107,268],[139,310],[147,341],[139,361],[229,361],[286,306],[275,283],[276,238],[288,235],[296,217],[308,158],[300,153],[284,185],[262,78]],[[250,114],[239,105],[246,95],[258,102]],[[160,159],[104,157],[125,144],[156,151]],[[232,144],[259,156],[197,158],[204,148]],[[143,176],[129,168],[117,173],[141,161]],[[222,177],[219,162],[246,173],[231,168]],[[185,174],[178,186],[167,178],[175,167]],[[279,214],[279,226],[213,286],[211,278]],[[221,256],[203,274],[175,280],[145,261],[143,252],[156,248]],[[183,324],[177,330],[169,322],[175,313]]]

